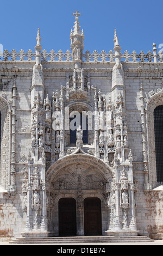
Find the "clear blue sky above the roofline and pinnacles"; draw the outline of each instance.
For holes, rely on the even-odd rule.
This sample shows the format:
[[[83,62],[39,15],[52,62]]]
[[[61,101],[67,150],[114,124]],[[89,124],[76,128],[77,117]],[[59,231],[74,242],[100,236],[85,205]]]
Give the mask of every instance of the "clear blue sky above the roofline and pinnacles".
[[[163,44],[162,0],[1,0],[0,7],[0,44],[9,51],[34,51],[38,27],[42,48],[47,52],[70,50],[72,13],[76,10],[81,13],[84,52],[113,50],[115,28],[122,53],[147,53],[152,51],[153,42],[157,48]]]

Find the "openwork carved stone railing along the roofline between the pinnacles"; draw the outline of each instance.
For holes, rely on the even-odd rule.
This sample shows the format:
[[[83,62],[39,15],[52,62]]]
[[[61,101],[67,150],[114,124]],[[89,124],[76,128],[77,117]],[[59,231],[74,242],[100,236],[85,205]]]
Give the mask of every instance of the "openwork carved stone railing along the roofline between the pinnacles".
[[[155,58],[155,61],[154,61]],[[9,52],[8,50],[4,50],[3,53],[0,54],[0,60],[3,61],[35,61],[35,52],[32,50],[28,50],[28,52],[24,52],[24,50],[20,50],[20,52],[16,52],[16,50],[12,50]],[[46,50],[43,50],[41,53],[42,62],[73,62],[72,53],[70,50],[67,50],[66,53],[63,53],[61,50],[55,52],[51,50],[50,53],[47,53]],[[129,53],[127,50],[122,54],[121,53],[121,61],[122,62],[163,62],[163,52],[159,51],[158,54],[155,55],[148,51],[147,54],[141,51],[137,54],[135,51]],[[96,50],[93,53],[86,51],[83,54],[83,62],[115,62],[115,54],[114,51],[110,50],[109,53],[106,53],[104,50],[101,53],[98,53]]]

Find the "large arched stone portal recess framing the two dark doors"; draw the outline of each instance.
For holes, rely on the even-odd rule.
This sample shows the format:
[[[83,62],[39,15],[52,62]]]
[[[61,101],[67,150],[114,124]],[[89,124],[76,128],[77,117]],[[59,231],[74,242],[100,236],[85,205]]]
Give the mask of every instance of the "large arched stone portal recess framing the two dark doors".
[[[111,190],[112,170],[107,164],[101,159],[97,161],[96,157],[91,155],[74,154],[65,156],[62,160],[55,162],[53,166],[47,170],[46,175],[50,184],[47,193],[48,231],[51,231],[55,236],[68,236],[68,234],[66,234],[68,232],[63,231],[65,229],[62,225],[66,225],[66,212],[68,214],[68,212],[71,211],[65,206],[59,205],[61,204],[61,200],[67,200],[68,204],[68,198],[76,200],[76,217],[74,217],[75,222],[73,223],[76,223],[77,231],[74,232],[73,235],[75,233],[77,235],[89,234],[87,231],[84,231],[84,200],[86,198],[91,198],[92,200],[97,198],[99,202],[97,203],[100,209],[98,222],[102,225],[102,228],[97,229],[97,232],[94,234],[101,235],[102,232],[102,234],[104,234],[104,231],[108,230],[109,208],[105,207],[105,198],[103,195],[105,194],[106,187],[107,191]],[[92,205],[92,203],[90,205]],[[73,206],[73,209],[74,208],[75,206]],[[87,207],[85,209],[85,212],[91,211]],[[94,211],[92,214],[96,215],[96,212]],[[70,235],[72,235],[72,233]]]

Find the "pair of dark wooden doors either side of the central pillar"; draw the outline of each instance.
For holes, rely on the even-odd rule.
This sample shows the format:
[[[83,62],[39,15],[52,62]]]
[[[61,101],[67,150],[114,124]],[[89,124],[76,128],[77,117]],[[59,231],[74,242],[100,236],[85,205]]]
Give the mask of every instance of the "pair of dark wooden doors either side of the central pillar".
[[[77,235],[76,200],[61,198],[59,200],[59,236]],[[86,198],[84,200],[84,235],[102,235],[101,200]]]

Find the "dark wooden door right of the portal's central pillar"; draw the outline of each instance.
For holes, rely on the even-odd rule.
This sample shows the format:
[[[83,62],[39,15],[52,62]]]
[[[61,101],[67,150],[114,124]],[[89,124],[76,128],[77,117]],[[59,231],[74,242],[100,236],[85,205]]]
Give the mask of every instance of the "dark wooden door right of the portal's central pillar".
[[[84,200],[84,235],[102,235],[102,209],[99,198]]]

